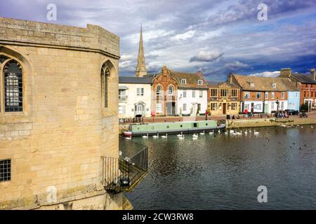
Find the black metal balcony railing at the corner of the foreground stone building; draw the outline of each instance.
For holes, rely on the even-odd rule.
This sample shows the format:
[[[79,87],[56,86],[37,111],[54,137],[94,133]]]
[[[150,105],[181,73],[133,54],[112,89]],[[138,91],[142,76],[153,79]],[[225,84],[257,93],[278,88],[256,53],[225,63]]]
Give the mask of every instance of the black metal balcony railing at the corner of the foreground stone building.
[[[147,147],[132,158],[103,157],[103,186],[112,193],[130,192],[145,177],[147,170]]]

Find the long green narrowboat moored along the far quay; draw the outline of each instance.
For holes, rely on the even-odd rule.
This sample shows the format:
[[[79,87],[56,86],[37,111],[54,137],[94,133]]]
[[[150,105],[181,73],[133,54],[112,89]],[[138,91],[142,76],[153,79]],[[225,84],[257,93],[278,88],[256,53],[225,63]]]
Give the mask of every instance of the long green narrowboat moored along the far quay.
[[[185,121],[175,123],[146,123],[129,126],[129,131],[124,132],[127,137],[136,137],[154,134],[183,134],[197,132],[212,132],[225,130],[225,124],[219,125],[217,120]]]

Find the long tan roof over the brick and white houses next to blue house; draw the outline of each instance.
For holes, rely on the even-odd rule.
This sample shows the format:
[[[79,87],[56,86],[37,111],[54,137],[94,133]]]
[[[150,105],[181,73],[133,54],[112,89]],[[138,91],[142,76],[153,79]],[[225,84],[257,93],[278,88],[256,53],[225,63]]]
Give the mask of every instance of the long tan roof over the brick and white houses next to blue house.
[[[253,91],[289,91],[293,86],[289,83],[287,78],[270,78],[270,77],[258,77],[258,76],[241,76],[234,75],[237,83],[244,90]],[[276,84],[273,87],[272,84]]]

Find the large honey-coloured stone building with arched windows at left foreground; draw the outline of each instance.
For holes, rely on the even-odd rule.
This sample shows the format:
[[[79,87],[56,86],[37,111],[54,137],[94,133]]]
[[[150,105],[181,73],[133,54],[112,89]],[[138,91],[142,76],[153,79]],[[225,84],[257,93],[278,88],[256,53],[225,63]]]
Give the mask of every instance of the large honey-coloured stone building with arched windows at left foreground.
[[[122,209],[118,60],[101,27],[0,18],[0,209]]]

